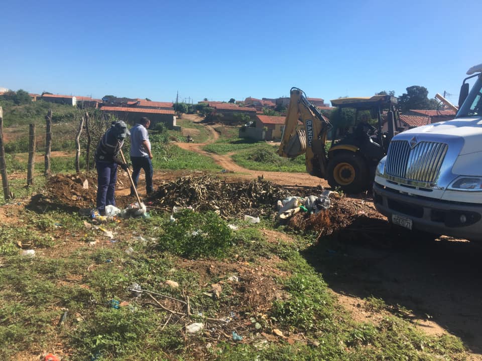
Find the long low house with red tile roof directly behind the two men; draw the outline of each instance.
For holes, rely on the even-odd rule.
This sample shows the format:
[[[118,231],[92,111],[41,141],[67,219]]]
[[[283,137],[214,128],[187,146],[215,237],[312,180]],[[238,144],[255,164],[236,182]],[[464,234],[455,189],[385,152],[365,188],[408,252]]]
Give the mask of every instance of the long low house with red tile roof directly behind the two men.
[[[162,122],[169,129],[181,130],[181,127],[176,125],[176,115],[174,114],[174,110],[116,106],[102,106],[100,107],[100,110],[112,114],[117,119],[124,120],[131,125],[134,125],[139,118],[145,116],[151,120],[151,127]]]

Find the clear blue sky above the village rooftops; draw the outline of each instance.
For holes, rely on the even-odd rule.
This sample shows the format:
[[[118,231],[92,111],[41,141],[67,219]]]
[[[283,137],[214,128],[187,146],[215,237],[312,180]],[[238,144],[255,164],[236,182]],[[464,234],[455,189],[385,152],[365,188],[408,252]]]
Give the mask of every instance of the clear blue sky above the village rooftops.
[[[479,0],[7,1],[0,87],[197,103],[371,96],[457,102],[482,63]]]

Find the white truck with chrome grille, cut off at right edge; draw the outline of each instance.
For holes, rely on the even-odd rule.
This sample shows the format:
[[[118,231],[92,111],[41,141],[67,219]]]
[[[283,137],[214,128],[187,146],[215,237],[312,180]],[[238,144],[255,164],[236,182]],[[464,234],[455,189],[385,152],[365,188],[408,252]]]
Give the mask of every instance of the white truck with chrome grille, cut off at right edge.
[[[482,241],[482,64],[467,75],[455,119],[397,134],[377,166],[375,207],[394,225]]]

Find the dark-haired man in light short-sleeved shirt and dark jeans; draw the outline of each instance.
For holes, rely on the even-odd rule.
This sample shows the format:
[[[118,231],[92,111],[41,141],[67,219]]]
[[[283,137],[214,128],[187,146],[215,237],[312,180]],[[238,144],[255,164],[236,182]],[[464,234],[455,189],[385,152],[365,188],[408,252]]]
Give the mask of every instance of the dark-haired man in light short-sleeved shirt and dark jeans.
[[[138,123],[131,128],[132,179],[137,189],[139,173],[141,169],[144,169],[144,173],[146,173],[146,192],[148,195],[153,192],[151,142],[149,141],[149,134],[147,132],[149,125],[151,125],[151,120],[142,117]],[[134,189],[132,187],[131,196],[134,196]]]

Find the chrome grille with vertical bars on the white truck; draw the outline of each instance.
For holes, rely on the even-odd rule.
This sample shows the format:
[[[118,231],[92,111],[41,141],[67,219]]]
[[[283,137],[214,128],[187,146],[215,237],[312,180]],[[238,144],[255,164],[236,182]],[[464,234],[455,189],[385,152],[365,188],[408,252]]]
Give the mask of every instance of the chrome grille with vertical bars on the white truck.
[[[397,178],[417,182],[435,182],[447,144],[421,141],[413,148],[407,140],[395,140],[390,143],[385,163],[385,172]]]

